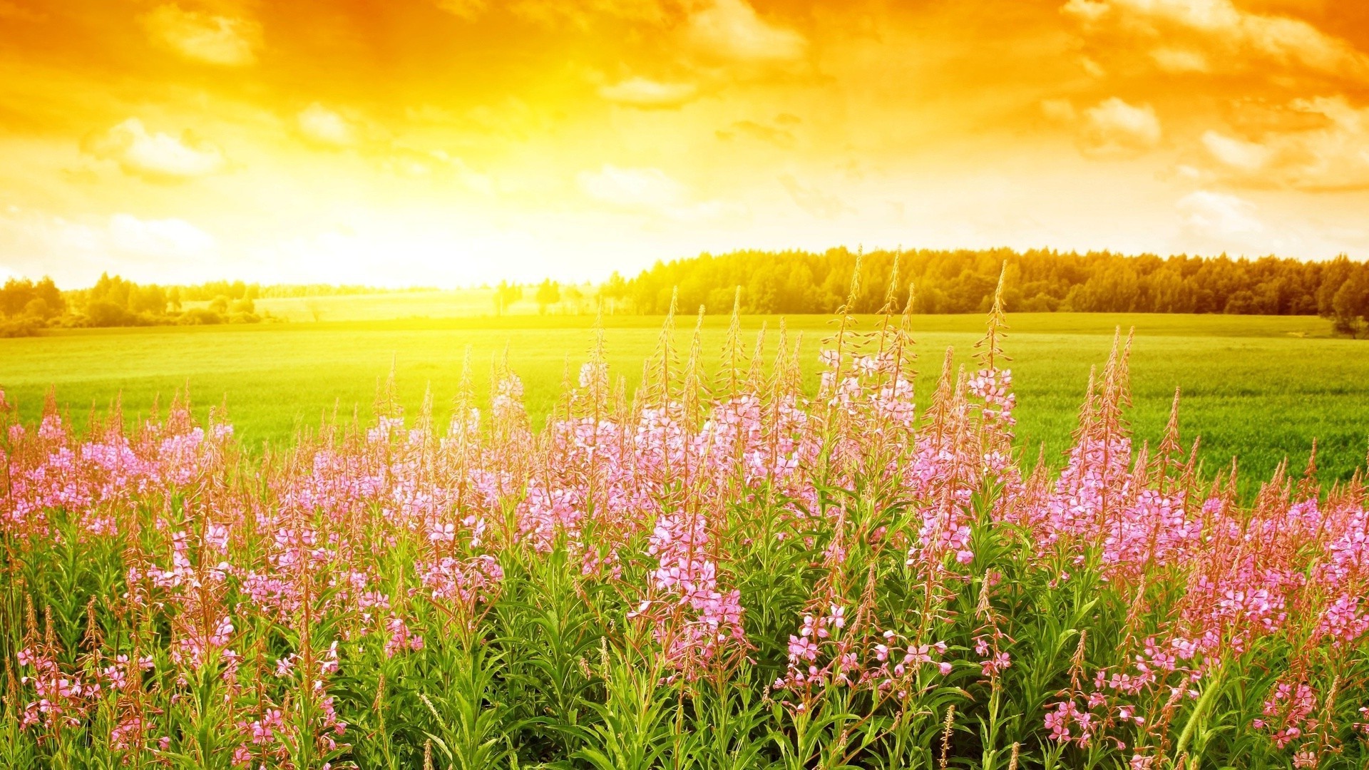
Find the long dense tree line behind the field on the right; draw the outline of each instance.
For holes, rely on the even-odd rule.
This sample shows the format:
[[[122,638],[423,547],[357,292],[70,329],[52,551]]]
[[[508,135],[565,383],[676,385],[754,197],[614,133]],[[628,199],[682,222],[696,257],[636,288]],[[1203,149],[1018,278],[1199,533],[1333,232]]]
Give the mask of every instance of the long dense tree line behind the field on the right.
[[[1005,300],[1017,312],[1321,315],[1338,332],[1357,336],[1369,322],[1369,262],[1346,256],[1305,262],[1002,248],[735,251],[657,262],[631,280],[615,274],[600,293],[632,312],[661,314],[675,292],[682,308],[730,310],[741,288],[742,312],[826,314],[846,300],[857,256],[857,312],[879,310],[897,262],[897,293],[906,297],[916,288],[913,312],[921,314],[987,311],[1006,270]]]

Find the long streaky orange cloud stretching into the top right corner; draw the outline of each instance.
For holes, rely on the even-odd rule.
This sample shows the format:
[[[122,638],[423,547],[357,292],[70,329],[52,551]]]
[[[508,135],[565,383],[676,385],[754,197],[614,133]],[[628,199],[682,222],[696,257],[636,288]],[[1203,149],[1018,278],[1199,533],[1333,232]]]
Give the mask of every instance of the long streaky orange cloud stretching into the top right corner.
[[[1251,69],[1258,60],[1369,81],[1369,56],[1350,42],[1301,19],[1244,11],[1232,0],[1069,0],[1061,11],[1102,41],[1153,44],[1151,56],[1166,71],[1210,71],[1216,58],[1228,71]],[[1172,48],[1176,38],[1202,51]]]

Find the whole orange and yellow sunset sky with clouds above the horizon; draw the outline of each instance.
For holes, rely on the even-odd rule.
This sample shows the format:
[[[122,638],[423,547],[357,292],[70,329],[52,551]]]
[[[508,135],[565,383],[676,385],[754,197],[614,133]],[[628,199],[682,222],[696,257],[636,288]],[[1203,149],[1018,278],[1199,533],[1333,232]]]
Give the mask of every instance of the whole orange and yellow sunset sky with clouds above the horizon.
[[[1369,3],[0,0],[0,278],[1369,256]]]

